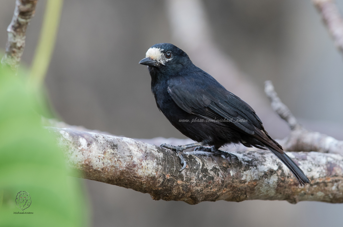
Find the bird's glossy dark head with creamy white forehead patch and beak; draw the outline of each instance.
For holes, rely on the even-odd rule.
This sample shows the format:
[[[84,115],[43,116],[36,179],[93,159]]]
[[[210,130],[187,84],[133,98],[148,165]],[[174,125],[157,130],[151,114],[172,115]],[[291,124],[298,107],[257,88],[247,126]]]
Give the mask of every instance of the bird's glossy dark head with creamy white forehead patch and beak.
[[[184,65],[190,64],[188,55],[170,43],[158,43],[153,45],[145,54],[139,64],[149,66],[149,71],[162,73],[176,73]]]

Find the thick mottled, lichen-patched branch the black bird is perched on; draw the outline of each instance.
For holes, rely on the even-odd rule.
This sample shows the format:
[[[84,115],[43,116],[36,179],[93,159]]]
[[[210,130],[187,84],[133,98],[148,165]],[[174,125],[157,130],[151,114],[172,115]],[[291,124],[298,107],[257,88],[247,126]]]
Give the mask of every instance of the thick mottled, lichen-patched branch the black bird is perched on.
[[[149,193],[155,200],[287,200],[343,202],[343,157],[319,152],[288,152],[310,184],[300,187],[269,151],[234,151],[230,162],[211,152],[186,152],[181,168],[174,151],[155,145],[73,129],[48,128],[57,135],[70,168],[84,178]]]

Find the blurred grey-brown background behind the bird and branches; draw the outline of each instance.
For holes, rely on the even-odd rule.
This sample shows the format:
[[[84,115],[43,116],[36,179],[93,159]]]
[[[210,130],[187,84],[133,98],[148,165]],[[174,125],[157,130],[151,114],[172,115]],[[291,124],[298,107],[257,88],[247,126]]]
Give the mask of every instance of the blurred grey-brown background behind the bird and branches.
[[[31,65],[44,15],[39,0],[26,32]],[[341,11],[343,1],[337,1]],[[0,50],[14,0],[0,3]],[[185,138],[158,111],[138,62],[170,42],[247,101],[274,138],[289,132],[269,107],[263,82],[307,129],[343,139],[343,59],[310,0],[64,1],[46,78],[50,100],[71,125],[132,138]],[[286,201],[154,201],[84,180],[93,226],[341,226],[343,204]]]

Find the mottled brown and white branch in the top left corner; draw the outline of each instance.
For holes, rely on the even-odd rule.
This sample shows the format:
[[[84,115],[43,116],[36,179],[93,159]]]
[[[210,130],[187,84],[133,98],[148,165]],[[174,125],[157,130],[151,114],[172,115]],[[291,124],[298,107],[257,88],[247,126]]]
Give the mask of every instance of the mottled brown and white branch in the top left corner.
[[[7,28],[8,40],[2,65],[17,71],[25,47],[25,33],[28,23],[35,14],[38,0],[16,0],[12,21]]]

